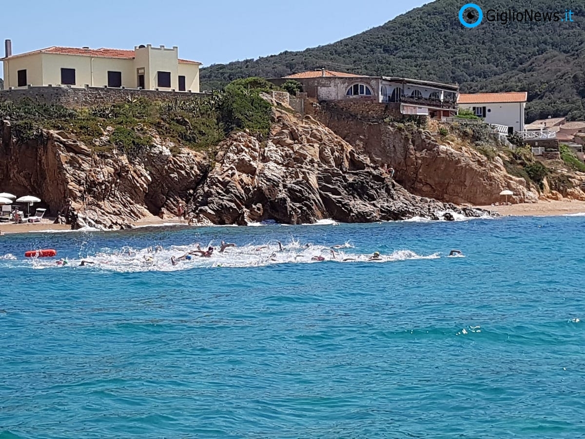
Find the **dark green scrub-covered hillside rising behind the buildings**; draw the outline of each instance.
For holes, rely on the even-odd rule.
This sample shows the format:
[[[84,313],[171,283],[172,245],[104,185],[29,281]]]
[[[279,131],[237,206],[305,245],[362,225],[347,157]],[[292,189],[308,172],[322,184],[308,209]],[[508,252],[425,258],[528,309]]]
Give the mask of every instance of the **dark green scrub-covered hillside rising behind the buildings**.
[[[214,64],[201,71],[202,87],[248,76],[281,77],[326,67],[353,73],[459,83],[462,92],[528,90],[528,121],[568,115],[585,119],[585,2],[481,0],[484,20],[464,28],[462,0],[437,0],[378,28],[326,46],[257,60]],[[574,12],[572,23],[487,22],[488,9]],[[350,66],[344,68],[340,66]]]

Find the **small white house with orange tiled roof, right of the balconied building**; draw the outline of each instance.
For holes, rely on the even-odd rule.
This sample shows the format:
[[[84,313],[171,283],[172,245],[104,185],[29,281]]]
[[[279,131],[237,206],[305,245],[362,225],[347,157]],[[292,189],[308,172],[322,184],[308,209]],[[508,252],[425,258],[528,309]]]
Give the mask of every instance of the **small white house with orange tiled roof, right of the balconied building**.
[[[505,125],[508,133],[524,131],[524,108],[528,92],[460,94],[459,108],[472,110],[487,124]]]

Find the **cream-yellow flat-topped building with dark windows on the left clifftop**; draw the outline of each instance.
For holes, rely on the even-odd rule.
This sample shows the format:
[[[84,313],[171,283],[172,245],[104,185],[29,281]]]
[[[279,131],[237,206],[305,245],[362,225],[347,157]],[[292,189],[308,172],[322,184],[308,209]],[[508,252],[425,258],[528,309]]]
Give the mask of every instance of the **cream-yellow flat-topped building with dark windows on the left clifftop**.
[[[147,44],[134,50],[53,46],[13,55],[6,40],[5,49],[5,89],[89,85],[199,92],[201,63],[179,59],[177,46]]]

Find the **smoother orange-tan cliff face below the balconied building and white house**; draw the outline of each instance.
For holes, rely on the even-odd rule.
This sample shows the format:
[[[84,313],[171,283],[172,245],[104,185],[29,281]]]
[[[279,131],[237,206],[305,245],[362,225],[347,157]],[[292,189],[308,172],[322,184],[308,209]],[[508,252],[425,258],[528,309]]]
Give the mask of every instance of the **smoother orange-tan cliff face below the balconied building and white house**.
[[[488,205],[503,201],[503,190],[514,192],[516,203],[538,200],[538,189],[507,173],[499,157],[440,139],[429,129],[363,120],[324,107],[319,120],[377,164],[395,170],[394,179],[408,191],[446,203]],[[436,128],[436,127],[435,127]]]

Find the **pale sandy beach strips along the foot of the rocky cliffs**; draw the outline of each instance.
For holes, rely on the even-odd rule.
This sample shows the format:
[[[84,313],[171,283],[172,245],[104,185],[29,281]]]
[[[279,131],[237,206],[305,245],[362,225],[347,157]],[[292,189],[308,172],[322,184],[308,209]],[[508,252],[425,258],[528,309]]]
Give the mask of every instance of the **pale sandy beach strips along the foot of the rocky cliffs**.
[[[579,200],[540,200],[538,203],[521,203],[500,206],[472,206],[484,210],[498,212],[502,217],[558,217],[561,215],[583,214],[585,216],[585,201]],[[472,219],[472,218],[470,218]],[[187,220],[177,218],[161,219],[159,217],[143,218],[139,221],[132,222],[135,228],[146,227],[163,227],[163,226],[183,226],[190,227]],[[204,227],[204,226],[201,226]],[[52,221],[35,222],[35,223],[0,223],[0,232],[6,235],[23,234],[34,232],[66,232],[71,231],[68,224],[53,224]]]

